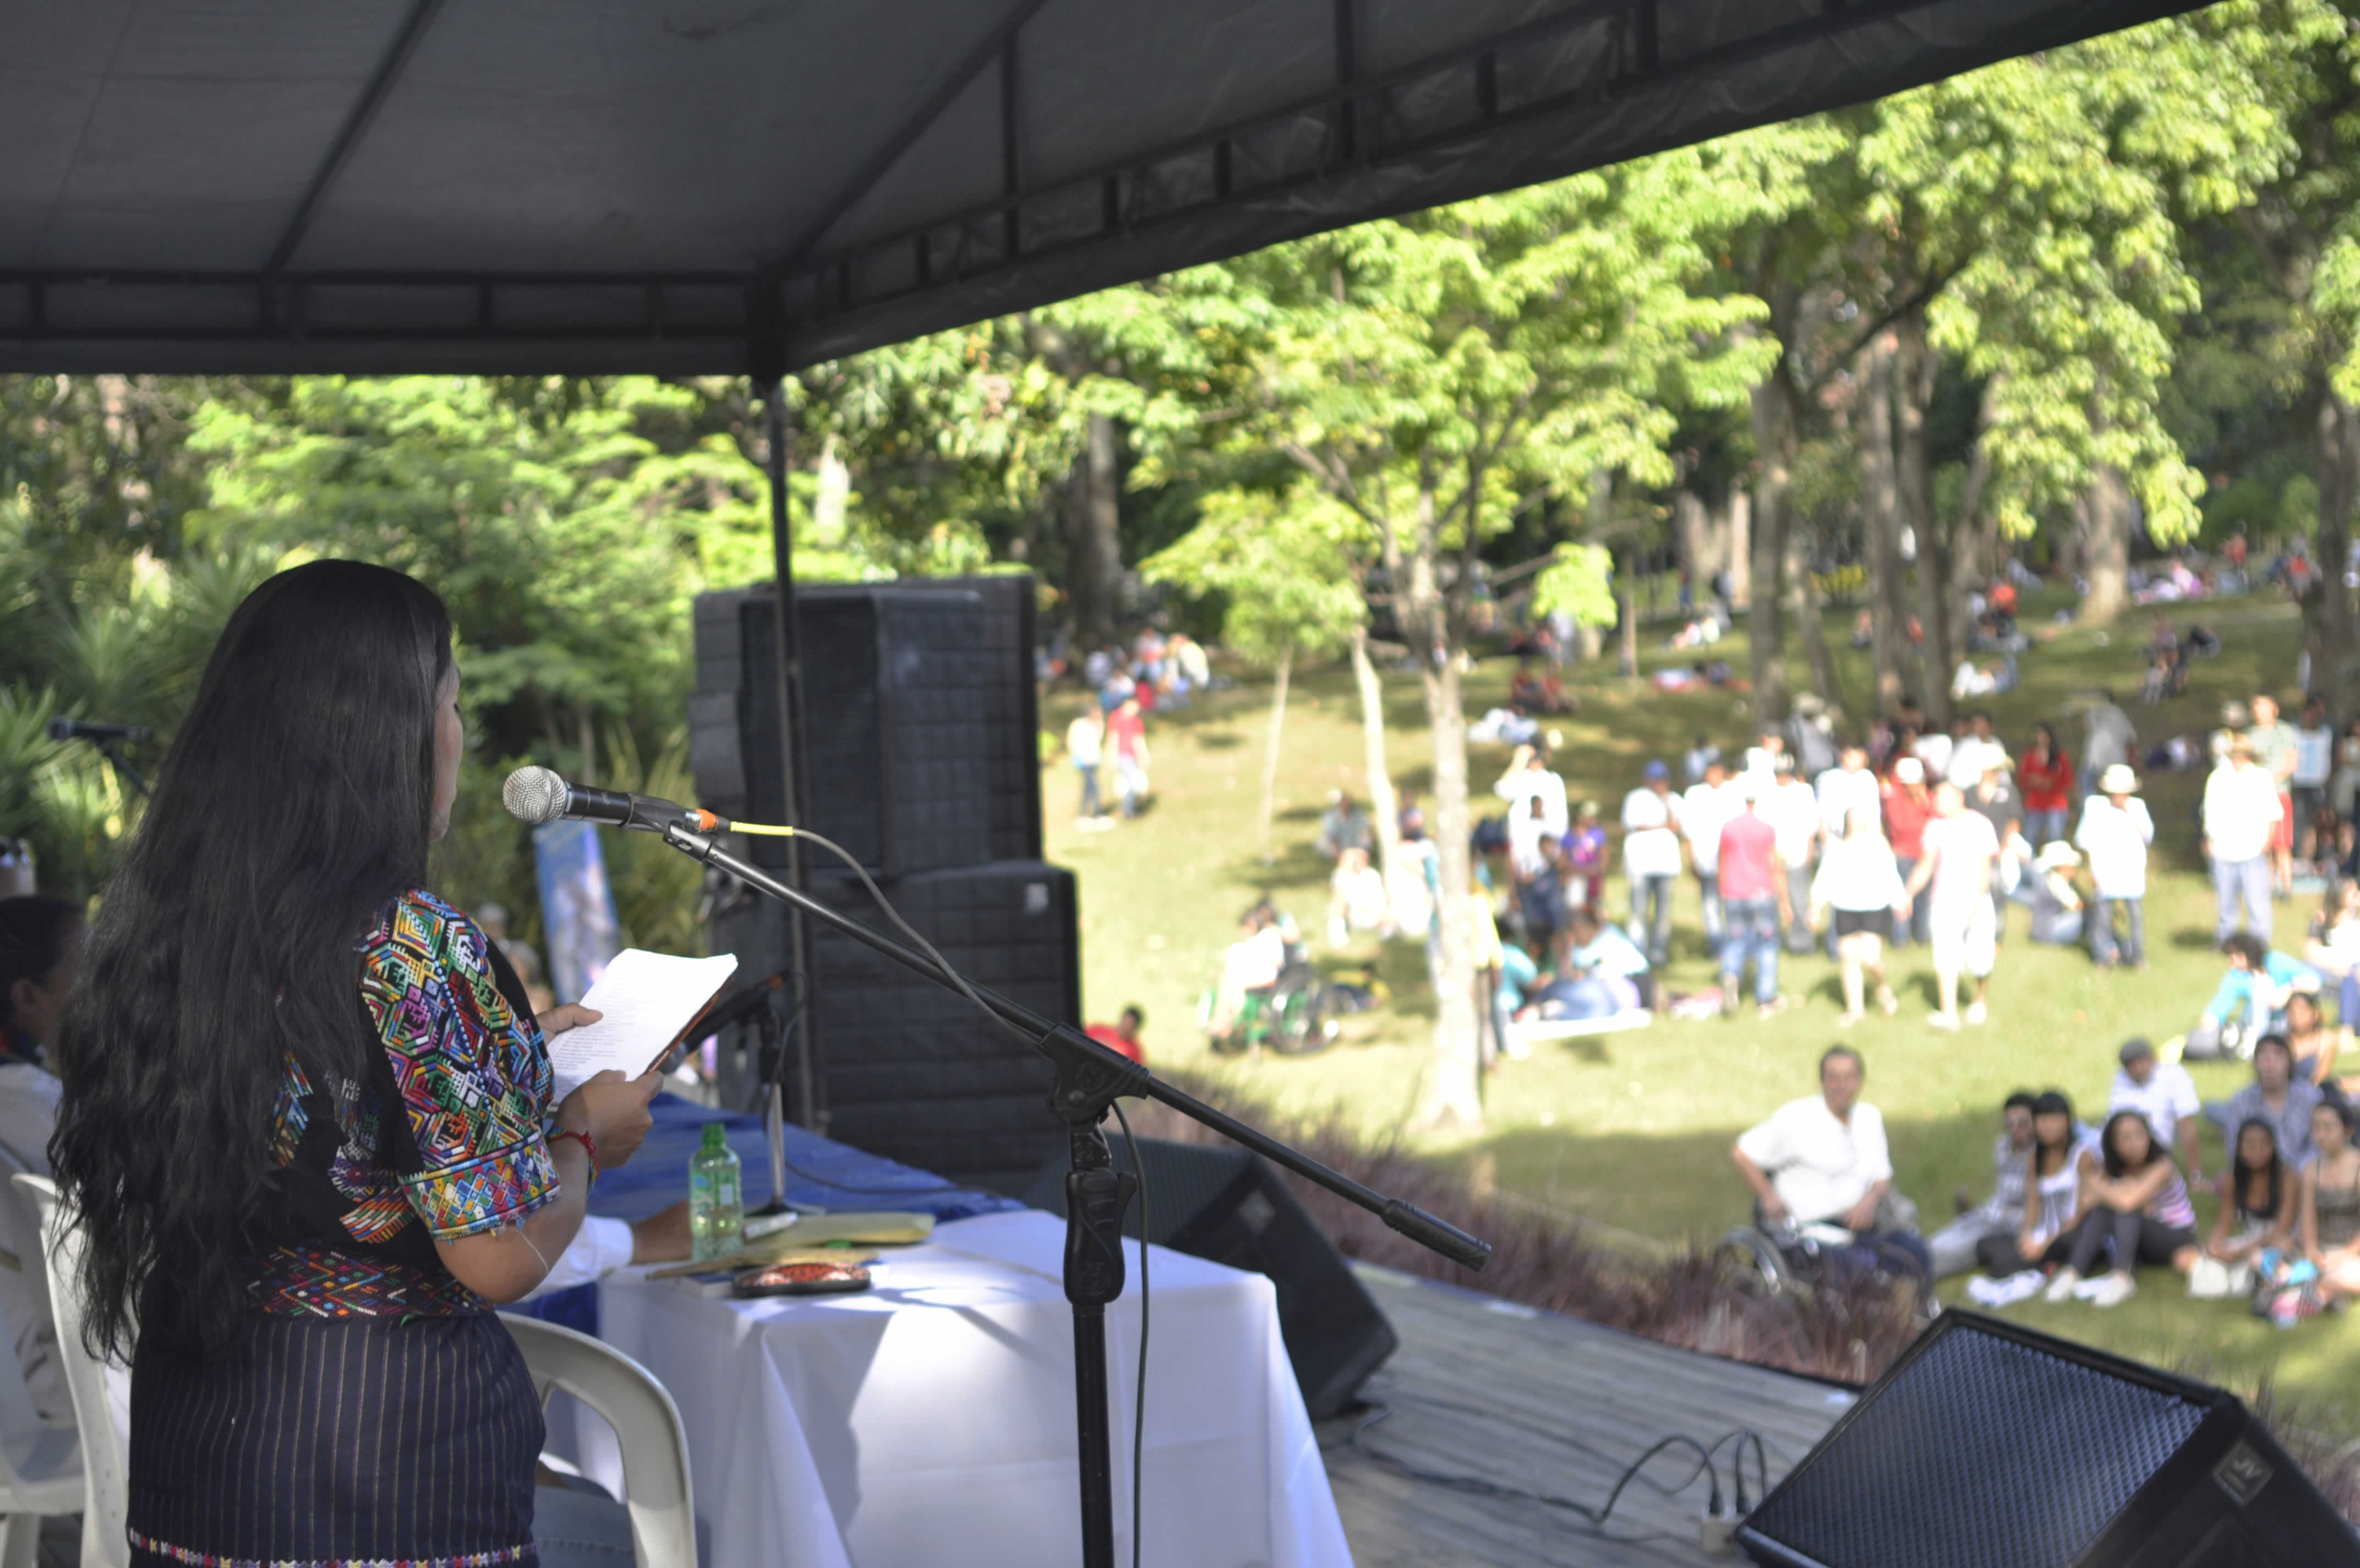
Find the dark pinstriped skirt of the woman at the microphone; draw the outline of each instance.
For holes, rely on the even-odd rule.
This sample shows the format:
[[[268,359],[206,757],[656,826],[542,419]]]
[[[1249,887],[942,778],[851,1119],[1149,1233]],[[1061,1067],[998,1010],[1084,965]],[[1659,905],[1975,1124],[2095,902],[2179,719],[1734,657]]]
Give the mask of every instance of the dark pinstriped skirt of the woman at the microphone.
[[[493,1313],[255,1315],[132,1370],[135,1563],[536,1563],[540,1400]]]

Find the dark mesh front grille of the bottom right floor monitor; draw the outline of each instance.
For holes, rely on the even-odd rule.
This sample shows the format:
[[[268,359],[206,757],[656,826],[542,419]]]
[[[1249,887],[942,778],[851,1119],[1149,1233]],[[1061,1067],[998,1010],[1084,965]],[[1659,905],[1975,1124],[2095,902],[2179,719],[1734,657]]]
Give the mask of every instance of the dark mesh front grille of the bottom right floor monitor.
[[[1827,1568],[2067,1568],[2204,1417],[2011,1339],[1942,1334],[1749,1525]]]

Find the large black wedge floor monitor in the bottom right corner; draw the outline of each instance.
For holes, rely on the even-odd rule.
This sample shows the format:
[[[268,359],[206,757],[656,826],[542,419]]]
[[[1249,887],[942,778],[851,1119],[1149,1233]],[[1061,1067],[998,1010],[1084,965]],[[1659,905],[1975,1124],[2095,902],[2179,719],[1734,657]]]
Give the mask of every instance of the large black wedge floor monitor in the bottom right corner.
[[[1779,1568],[2329,1568],[2351,1525],[2233,1396],[1942,1313],[1737,1530]]]

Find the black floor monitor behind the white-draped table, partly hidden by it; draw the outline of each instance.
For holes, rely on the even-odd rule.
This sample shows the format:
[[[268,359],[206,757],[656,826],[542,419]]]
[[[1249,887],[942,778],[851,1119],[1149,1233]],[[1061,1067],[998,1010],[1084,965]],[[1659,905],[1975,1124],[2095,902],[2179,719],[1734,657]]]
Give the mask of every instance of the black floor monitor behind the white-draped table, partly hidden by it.
[[[1279,1289],[1279,1332],[1303,1386],[1303,1405],[1315,1422],[1343,1412],[1402,1341],[1336,1244],[1258,1155],[1230,1145],[1140,1138],[1140,1159],[1147,1164],[1147,1219],[1154,1223],[1147,1240],[1270,1275]],[[1130,1169],[1123,1138],[1114,1138],[1114,1164]],[[1067,1155],[1060,1148],[1041,1167],[1024,1202],[1064,1219],[1064,1174]],[[1123,1216],[1123,1235],[1140,1235],[1138,1204]]]

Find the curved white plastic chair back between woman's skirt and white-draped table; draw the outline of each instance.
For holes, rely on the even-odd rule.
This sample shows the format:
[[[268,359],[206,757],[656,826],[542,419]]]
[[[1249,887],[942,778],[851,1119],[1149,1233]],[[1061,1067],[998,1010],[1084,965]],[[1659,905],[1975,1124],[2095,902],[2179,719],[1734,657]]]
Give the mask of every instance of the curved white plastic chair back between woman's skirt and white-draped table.
[[[564,1389],[614,1426],[640,1568],[696,1568],[689,1433],[673,1396],[647,1367],[588,1334],[514,1313],[500,1320],[524,1351],[543,1403]]]

